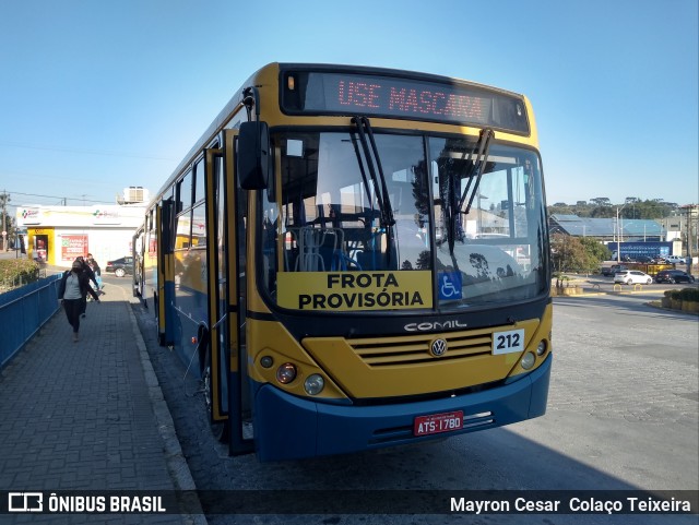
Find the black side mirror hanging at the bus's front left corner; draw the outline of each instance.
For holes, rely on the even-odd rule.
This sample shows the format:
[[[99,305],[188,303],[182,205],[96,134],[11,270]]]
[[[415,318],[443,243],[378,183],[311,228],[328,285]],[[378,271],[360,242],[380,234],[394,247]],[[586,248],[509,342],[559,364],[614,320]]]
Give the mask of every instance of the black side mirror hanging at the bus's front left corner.
[[[263,190],[272,170],[270,131],[266,122],[242,122],[238,133],[238,179],[244,190]]]

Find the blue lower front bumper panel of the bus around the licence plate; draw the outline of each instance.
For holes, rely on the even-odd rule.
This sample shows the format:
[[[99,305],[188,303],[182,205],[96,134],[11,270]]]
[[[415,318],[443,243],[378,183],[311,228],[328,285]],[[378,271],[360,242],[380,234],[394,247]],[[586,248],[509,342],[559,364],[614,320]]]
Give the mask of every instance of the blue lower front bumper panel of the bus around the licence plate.
[[[256,395],[254,439],[260,461],[343,454],[416,443],[531,419],[546,411],[552,356],[510,384],[457,397],[381,406],[315,403],[269,384]],[[463,410],[464,428],[413,435],[416,416]]]

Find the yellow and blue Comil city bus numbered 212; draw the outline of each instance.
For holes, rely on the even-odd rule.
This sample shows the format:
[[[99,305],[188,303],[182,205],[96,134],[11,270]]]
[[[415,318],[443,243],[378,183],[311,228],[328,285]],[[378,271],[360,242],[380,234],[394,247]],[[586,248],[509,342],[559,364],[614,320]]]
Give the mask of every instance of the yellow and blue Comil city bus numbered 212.
[[[352,453],[546,410],[549,244],[525,96],[268,64],[138,236],[134,291],[201,374],[232,454]]]

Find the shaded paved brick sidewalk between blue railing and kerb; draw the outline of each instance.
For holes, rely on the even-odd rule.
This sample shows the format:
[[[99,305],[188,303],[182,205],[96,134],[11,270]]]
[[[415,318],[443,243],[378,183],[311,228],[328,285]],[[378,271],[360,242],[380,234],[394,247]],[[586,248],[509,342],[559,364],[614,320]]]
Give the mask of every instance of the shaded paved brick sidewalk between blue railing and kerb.
[[[194,490],[127,293],[62,309],[0,371],[0,490]],[[12,330],[10,326],[4,330]],[[2,523],[205,523],[201,515],[34,514]],[[16,518],[16,522],[12,522]],[[24,520],[20,520],[24,518]]]

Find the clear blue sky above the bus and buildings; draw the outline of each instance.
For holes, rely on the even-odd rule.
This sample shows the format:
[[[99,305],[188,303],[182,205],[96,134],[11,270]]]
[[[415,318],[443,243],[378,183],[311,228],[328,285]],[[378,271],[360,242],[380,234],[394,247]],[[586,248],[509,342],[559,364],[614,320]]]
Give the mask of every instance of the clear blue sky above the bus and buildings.
[[[699,202],[697,0],[0,2],[0,192],[155,193],[269,62],[466,79],[532,102],[548,204]]]

